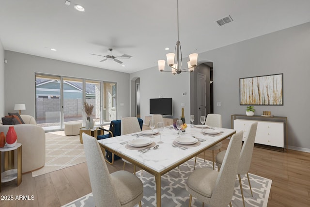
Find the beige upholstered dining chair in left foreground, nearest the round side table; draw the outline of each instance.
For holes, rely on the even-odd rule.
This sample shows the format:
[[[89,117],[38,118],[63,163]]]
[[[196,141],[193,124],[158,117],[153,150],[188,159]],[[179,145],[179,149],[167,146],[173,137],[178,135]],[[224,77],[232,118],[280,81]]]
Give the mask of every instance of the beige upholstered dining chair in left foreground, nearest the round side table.
[[[110,174],[97,140],[85,133],[82,139],[95,206],[134,207],[139,203],[141,207],[141,180],[123,170]]]

